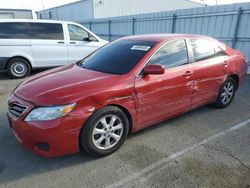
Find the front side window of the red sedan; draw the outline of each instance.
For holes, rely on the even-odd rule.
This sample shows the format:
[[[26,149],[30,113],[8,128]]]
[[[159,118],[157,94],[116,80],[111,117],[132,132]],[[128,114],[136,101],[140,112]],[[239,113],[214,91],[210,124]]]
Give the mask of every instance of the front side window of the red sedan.
[[[161,64],[167,68],[188,63],[185,40],[175,40],[161,47],[150,59],[149,64]]]

